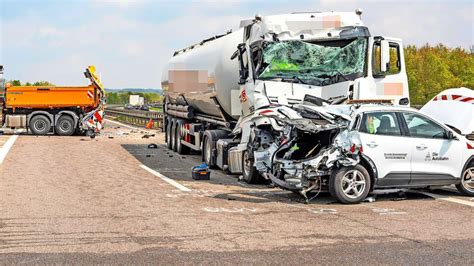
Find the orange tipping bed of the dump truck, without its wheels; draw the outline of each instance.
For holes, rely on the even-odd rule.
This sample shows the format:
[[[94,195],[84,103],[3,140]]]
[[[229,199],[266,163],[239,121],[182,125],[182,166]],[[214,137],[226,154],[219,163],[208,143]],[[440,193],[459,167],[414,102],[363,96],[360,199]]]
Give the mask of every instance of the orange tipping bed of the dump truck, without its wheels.
[[[96,88],[61,86],[13,86],[6,90],[7,108],[95,107],[99,103]]]

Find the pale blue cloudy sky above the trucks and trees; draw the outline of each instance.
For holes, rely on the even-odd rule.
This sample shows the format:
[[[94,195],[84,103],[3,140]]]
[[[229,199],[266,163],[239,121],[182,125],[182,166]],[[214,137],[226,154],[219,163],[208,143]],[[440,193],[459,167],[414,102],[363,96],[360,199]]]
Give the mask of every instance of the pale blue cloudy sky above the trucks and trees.
[[[374,36],[474,44],[474,1],[0,0],[0,65],[7,80],[87,85],[82,73],[92,64],[105,87],[159,88],[175,50],[242,19],[356,8]]]

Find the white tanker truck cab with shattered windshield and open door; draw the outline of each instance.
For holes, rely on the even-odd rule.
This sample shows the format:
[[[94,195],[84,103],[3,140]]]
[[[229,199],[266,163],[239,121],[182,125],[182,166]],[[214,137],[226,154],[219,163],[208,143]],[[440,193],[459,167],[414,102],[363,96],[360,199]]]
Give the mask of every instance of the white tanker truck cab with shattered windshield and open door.
[[[247,39],[234,57],[243,115],[298,103],[307,94],[409,105],[402,41],[371,36],[361,14],[293,13],[242,22]]]

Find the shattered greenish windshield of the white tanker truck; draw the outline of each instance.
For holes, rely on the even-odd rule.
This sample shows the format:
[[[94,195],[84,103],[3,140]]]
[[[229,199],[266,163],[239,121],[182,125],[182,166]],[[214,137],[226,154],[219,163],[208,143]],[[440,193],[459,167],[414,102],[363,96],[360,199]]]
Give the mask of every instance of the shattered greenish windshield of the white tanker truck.
[[[310,43],[290,40],[266,43],[258,79],[293,80],[318,86],[363,76],[367,39]]]

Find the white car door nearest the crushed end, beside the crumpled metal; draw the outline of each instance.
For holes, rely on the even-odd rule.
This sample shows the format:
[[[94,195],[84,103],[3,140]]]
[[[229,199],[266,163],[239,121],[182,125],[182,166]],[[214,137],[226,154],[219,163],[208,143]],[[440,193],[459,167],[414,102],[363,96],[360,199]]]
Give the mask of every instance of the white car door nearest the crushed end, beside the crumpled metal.
[[[359,126],[363,155],[376,166],[376,185],[408,185],[411,172],[411,147],[405,145],[400,121],[395,112],[365,112]]]

